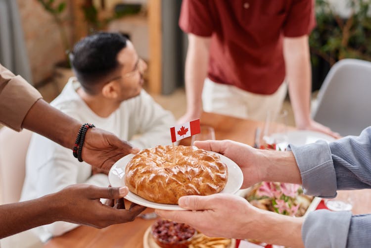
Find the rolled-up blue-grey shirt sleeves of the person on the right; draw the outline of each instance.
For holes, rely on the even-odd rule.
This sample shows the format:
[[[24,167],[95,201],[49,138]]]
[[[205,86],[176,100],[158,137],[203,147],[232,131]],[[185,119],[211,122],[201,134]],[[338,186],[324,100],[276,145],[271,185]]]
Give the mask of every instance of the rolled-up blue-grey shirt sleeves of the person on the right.
[[[359,137],[290,149],[306,194],[331,198],[336,190],[371,188],[371,127]],[[302,228],[306,247],[368,247],[370,233],[371,215],[328,210],[310,213]]]

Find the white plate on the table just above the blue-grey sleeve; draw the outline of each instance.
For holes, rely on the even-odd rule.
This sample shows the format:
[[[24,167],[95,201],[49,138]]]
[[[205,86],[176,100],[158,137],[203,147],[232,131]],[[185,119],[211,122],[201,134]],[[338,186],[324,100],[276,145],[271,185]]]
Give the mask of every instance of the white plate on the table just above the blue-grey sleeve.
[[[310,143],[315,143],[318,140],[325,140],[332,142],[335,138],[326,135],[324,133],[309,131],[309,130],[297,130],[287,132],[288,143],[294,146],[303,146]]]

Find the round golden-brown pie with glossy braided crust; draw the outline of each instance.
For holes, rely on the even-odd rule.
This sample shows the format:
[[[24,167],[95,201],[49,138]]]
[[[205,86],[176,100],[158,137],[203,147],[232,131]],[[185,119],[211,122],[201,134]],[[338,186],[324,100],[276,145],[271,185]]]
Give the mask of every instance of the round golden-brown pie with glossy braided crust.
[[[219,155],[196,147],[157,146],[136,154],[125,170],[125,184],[141,198],[178,204],[182,196],[207,196],[227,184],[227,165]]]

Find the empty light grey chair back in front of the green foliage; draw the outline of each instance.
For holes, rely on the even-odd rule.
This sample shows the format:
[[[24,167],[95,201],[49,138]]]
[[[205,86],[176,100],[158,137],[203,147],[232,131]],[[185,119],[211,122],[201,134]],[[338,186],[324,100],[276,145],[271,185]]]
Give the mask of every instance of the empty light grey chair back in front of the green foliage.
[[[371,62],[342,59],[328,72],[318,94],[315,121],[342,136],[371,125]]]

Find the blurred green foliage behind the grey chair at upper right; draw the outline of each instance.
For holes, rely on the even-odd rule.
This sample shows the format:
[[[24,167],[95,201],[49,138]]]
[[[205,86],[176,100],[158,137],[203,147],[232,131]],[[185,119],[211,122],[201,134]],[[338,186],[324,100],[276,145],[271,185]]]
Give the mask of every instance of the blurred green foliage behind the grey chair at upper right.
[[[340,59],[371,60],[370,4],[371,0],[347,0],[350,14],[344,18],[328,0],[316,0],[317,26],[309,37],[313,81],[322,83],[329,68]]]

